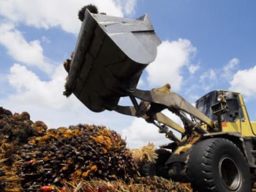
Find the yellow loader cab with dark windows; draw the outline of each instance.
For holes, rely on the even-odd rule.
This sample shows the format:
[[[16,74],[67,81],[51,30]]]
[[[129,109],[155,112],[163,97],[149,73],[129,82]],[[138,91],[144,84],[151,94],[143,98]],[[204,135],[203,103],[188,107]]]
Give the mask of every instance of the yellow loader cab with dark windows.
[[[221,101],[220,96],[223,96]],[[218,121],[218,115],[213,112],[213,106],[221,106],[224,102],[226,109],[220,109],[220,131],[238,131],[242,136],[252,136],[256,127],[252,126],[240,93],[215,90],[205,94],[195,102],[195,107],[213,121]],[[220,104],[220,105],[219,105]],[[221,108],[219,107],[219,108]],[[217,107],[218,108],[218,107]]]

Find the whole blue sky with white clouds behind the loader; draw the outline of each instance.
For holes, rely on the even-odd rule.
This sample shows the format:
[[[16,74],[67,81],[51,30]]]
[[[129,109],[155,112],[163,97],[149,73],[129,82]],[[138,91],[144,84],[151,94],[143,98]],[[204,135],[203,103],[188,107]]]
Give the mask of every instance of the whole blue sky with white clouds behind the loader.
[[[139,88],[169,82],[190,102],[215,89],[239,91],[256,120],[255,1],[0,0],[0,106],[28,111],[32,120],[43,120],[49,128],[106,125],[126,137],[130,147],[166,142],[143,120],[94,113],[74,96],[62,96],[62,62],[75,48],[77,11],[88,3],[108,15],[150,15],[163,43]]]

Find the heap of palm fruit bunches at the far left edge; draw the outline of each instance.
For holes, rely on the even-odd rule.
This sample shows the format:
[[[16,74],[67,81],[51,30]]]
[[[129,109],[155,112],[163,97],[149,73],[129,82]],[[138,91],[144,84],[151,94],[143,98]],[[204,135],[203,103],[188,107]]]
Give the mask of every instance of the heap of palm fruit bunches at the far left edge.
[[[20,191],[20,149],[33,136],[45,133],[45,123],[32,122],[28,112],[12,114],[0,107],[0,191]]]

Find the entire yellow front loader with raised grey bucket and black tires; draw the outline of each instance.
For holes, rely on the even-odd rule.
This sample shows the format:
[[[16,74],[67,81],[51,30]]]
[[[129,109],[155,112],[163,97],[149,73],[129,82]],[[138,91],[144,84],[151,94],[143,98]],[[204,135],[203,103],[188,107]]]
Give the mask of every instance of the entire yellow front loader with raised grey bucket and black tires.
[[[144,164],[142,175],[189,182],[200,192],[251,191],[256,123],[250,122],[240,93],[211,91],[194,107],[169,84],[137,89],[160,43],[147,14],[133,20],[86,10],[64,94],[74,93],[94,112],[141,117],[165,133],[172,142],[157,149],[158,159]],[[122,97],[130,98],[132,105],[120,106]],[[183,125],[164,115],[164,110],[176,114]]]

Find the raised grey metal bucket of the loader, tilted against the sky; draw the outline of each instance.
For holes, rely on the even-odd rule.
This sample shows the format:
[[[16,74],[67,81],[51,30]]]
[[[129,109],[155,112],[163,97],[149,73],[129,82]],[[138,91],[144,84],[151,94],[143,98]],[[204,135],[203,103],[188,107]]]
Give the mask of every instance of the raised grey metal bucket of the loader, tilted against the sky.
[[[160,40],[144,15],[137,20],[87,9],[66,82],[90,110],[113,110],[135,90],[140,75],[156,57]]]

